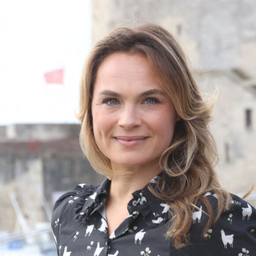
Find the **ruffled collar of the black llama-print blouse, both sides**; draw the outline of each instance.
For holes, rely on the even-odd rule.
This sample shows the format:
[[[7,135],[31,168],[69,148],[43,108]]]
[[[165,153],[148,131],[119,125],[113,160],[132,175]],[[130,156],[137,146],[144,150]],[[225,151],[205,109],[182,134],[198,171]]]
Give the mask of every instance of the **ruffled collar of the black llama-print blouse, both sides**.
[[[150,181],[151,184],[157,182],[162,176],[160,173]],[[105,179],[101,184],[94,188],[83,190],[76,200],[75,220],[86,222],[94,213],[101,209],[107,200],[107,191],[111,181]],[[167,221],[169,218],[168,206],[166,202],[158,200],[148,189],[148,184],[140,190],[132,193],[133,199],[128,203],[128,218],[135,219],[142,215],[143,220],[149,226],[158,226]]]

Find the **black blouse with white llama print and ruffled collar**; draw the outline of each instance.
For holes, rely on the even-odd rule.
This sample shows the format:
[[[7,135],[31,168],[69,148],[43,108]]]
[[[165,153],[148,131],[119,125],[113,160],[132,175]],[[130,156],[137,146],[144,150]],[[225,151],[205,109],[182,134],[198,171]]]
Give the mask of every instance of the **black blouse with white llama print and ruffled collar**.
[[[192,214],[190,245],[176,249],[165,237],[172,222],[168,206],[146,186],[132,194],[129,215],[109,236],[104,205],[110,182],[80,184],[56,202],[52,230],[59,256],[256,256],[256,209],[234,195],[230,211],[203,237],[207,216],[199,205]],[[215,194],[205,196],[217,207]]]

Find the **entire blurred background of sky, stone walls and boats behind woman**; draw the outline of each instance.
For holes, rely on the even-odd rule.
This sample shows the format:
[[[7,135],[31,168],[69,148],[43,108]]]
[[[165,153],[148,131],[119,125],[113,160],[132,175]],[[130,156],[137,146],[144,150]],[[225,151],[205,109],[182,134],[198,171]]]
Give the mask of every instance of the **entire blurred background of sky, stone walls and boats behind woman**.
[[[56,255],[53,203],[98,184],[79,148],[79,79],[95,41],[157,23],[181,42],[202,92],[219,97],[211,130],[222,185],[256,183],[255,0],[0,1],[0,251]],[[256,192],[247,200],[256,206]]]

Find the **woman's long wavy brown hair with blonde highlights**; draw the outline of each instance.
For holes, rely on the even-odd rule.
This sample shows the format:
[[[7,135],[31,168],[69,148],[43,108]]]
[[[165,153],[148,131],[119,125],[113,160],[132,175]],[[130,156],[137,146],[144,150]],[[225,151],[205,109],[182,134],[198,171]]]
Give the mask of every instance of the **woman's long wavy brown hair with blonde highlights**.
[[[214,166],[218,155],[209,131],[215,97],[203,100],[190,72],[186,57],[177,40],[161,26],[145,24],[118,28],[98,41],[90,52],[80,83],[80,105],[77,117],[82,122],[81,148],[91,166],[112,177],[111,164],[99,150],[93,134],[91,102],[97,70],[102,60],[116,52],[143,53],[163,90],[169,95],[181,120],[174,128],[173,140],[162,153],[163,176],[151,192],[170,206],[173,216],[167,237],[176,248],[189,243],[192,212],[197,202],[203,203],[208,215],[202,235],[230,207],[231,197],[221,188]],[[212,209],[206,192],[218,197],[218,209]]]

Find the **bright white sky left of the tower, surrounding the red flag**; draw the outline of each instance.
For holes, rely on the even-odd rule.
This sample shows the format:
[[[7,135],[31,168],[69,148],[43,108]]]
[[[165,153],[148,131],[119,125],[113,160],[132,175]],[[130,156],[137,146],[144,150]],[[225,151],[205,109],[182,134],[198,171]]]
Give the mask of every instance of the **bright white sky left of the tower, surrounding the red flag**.
[[[75,123],[91,0],[0,1],[0,125]],[[44,74],[64,69],[64,84]]]

